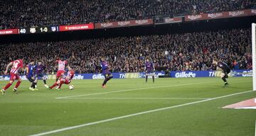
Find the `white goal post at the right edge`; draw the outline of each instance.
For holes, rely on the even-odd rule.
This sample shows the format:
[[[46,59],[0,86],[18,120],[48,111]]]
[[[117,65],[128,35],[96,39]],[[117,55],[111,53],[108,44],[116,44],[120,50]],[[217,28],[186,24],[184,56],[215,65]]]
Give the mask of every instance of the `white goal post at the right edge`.
[[[256,91],[256,45],[255,29],[256,23],[252,23],[252,89]]]

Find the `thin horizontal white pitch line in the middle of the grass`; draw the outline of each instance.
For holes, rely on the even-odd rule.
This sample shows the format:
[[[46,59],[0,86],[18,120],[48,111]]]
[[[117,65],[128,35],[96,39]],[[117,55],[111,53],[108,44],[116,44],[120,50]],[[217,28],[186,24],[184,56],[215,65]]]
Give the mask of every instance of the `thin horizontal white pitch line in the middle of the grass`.
[[[71,97],[71,99],[74,98],[74,99],[79,99],[79,98],[84,98],[84,99],[117,99],[117,100],[179,100],[179,99],[188,99],[188,100],[206,100],[206,99],[209,99],[209,98],[174,98],[174,97],[162,97],[162,98],[146,98],[146,97],[141,97],[141,98],[129,98],[129,97],[117,97],[117,98],[114,98],[114,97]]]

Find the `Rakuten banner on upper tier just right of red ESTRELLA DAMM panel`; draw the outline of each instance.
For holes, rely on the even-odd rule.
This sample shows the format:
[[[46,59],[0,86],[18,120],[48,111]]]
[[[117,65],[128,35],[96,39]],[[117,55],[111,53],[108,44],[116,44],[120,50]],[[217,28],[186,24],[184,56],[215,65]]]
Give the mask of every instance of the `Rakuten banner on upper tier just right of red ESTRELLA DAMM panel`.
[[[127,26],[144,26],[153,24],[153,19],[142,19],[132,21],[115,21],[107,23],[95,23],[95,28],[119,28]]]

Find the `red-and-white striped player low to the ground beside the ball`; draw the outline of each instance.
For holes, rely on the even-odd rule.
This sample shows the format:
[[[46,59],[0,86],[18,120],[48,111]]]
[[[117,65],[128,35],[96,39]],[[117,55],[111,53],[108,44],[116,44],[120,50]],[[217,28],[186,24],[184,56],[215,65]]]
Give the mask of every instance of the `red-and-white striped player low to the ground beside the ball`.
[[[63,77],[60,78],[58,81],[56,81],[55,84],[53,84],[53,86],[50,86],[50,89],[53,89],[55,86],[58,86],[58,84],[59,84],[59,86],[58,86],[57,89],[60,89],[62,84],[70,84],[70,82],[73,79],[74,75],[75,75],[74,70],[70,66],[68,66],[68,74],[67,74],[67,76],[65,77],[65,75],[63,74]]]

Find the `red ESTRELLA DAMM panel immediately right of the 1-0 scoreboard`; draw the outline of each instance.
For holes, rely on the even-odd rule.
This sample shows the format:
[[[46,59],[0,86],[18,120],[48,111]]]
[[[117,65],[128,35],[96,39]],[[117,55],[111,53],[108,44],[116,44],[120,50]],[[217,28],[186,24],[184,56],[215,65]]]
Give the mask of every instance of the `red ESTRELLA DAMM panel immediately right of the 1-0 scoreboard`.
[[[59,26],[59,31],[70,31],[70,30],[90,30],[93,29],[93,23],[69,25],[69,26]]]

